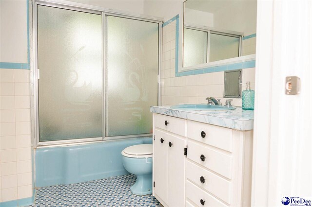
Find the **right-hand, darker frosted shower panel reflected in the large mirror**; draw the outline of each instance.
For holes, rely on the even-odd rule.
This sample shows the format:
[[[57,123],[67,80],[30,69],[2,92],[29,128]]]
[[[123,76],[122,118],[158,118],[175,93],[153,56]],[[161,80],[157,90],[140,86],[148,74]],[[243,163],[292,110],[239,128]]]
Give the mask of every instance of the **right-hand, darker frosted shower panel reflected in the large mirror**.
[[[211,33],[209,50],[209,62],[238,57],[239,38]]]

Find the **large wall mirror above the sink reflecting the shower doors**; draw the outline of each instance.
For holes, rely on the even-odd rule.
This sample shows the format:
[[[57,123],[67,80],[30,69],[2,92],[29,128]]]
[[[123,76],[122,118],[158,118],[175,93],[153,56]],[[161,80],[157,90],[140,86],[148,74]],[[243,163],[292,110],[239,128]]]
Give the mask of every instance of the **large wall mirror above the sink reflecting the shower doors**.
[[[254,54],[256,7],[256,0],[184,1],[183,68]]]

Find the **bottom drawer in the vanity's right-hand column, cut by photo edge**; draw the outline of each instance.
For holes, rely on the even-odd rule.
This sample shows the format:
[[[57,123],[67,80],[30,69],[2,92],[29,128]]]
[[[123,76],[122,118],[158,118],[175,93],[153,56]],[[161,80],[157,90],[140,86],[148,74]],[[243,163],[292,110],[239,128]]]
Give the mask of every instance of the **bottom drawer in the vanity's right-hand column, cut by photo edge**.
[[[186,197],[199,207],[226,207],[221,201],[195,186],[190,181],[186,181]],[[201,200],[204,205],[201,204]]]

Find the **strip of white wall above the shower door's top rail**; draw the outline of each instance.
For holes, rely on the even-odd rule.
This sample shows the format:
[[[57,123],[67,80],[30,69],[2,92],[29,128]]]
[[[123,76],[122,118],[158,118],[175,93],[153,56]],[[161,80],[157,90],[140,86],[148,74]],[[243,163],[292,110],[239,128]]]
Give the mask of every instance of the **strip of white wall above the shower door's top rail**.
[[[143,14],[144,0],[69,0],[77,3],[100,6],[131,13]]]

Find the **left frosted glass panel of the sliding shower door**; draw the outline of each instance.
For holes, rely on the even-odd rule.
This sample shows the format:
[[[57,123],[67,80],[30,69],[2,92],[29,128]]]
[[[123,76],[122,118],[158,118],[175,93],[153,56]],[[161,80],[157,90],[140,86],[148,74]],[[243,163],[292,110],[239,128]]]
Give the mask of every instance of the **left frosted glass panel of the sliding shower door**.
[[[38,6],[40,141],[102,137],[101,22]]]

